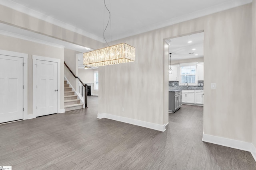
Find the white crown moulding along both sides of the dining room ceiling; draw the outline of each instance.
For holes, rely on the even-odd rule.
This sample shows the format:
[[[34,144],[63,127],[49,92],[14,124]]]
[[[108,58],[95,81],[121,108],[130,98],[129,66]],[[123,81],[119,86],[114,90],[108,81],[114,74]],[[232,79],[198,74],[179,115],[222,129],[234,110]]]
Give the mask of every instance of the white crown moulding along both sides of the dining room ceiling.
[[[192,20],[195,18],[199,18],[202,16],[206,16],[209,14],[214,14],[216,12],[220,12],[220,11],[224,11],[224,10],[228,10],[231,8],[235,8],[238,6],[242,6],[244,4],[249,4],[251,3],[252,0],[232,0],[232,1],[228,1],[222,4],[218,4],[216,6],[211,6],[209,8],[205,8],[203,10],[199,10],[199,11],[195,11],[192,12],[190,14],[186,14],[183,16],[178,16],[176,18],[172,18],[170,20],[165,20],[159,23],[154,23],[151,26],[145,26],[145,27],[141,27],[140,29],[134,29],[133,31],[127,31],[127,33],[123,33],[121,35],[113,35],[112,36],[112,40],[117,40],[117,39],[122,39],[124,37],[129,37],[131,35],[136,35],[136,34],[140,34],[140,33],[144,33],[147,31],[152,31],[154,29],[158,29],[158,28],[162,28],[162,27],[166,27],[169,25],[173,25],[175,23],[180,23],[183,21],[188,21],[188,20]],[[0,0],[0,4],[2,4],[3,6],[7,6],[8,8],[14,9],[16,11],[28,14],[29,16],[33,16],[35,18],[38,18],[40,20],[46,21],[48,23],[52,23],[54,25],[58,25],[59,27],[62,27],[64,29],[68,29],[70,31],[76,32],[78,34],[84,35],[86,37],[95,39],[97,41],[102,41],[102,37],[98,37],[97,35],[93,35],[91,33],[88,33],[87,31],[84,31],[82,29],[79,29],[73,25],[64,23],[60,20],[56,20],[55,18],[52,18],[50,16],[46,16],[45,14],[42,14],[36,10],[27,8],[21,4],[18,4],[16,2],[12,2],[10,0]]]

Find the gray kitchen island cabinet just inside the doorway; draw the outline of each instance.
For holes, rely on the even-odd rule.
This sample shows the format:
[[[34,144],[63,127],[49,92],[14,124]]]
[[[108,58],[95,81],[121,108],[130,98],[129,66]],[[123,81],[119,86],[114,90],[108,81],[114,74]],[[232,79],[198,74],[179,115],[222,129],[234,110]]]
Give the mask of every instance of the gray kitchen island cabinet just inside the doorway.
[[[169,89],[169,113],[174,113],[182,106],[182,90]]]

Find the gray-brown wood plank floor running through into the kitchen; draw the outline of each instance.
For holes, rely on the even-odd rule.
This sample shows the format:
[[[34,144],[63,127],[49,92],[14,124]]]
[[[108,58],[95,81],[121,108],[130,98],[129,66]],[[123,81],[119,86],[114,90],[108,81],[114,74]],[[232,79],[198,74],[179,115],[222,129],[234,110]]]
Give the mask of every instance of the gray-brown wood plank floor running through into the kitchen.
[[[183,105],[165,132],[88,109],[0,125],[0,166],[14,170],[256,170],[250,152],[202,142],[203,108]]]

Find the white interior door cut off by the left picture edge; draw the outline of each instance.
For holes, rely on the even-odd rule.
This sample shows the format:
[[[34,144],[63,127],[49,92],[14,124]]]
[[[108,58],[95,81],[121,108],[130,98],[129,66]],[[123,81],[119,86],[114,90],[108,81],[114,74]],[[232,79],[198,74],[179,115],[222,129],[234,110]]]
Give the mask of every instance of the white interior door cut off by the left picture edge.
[[[0,123],[23,119],[23,58],[0,55]]]

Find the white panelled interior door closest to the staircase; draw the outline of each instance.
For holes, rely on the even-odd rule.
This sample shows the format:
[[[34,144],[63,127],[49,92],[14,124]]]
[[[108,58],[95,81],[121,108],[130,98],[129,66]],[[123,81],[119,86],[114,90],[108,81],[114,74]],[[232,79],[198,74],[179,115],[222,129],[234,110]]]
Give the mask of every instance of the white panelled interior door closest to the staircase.
[[[36,60],[36,116],[57,113],[57,63]]]

